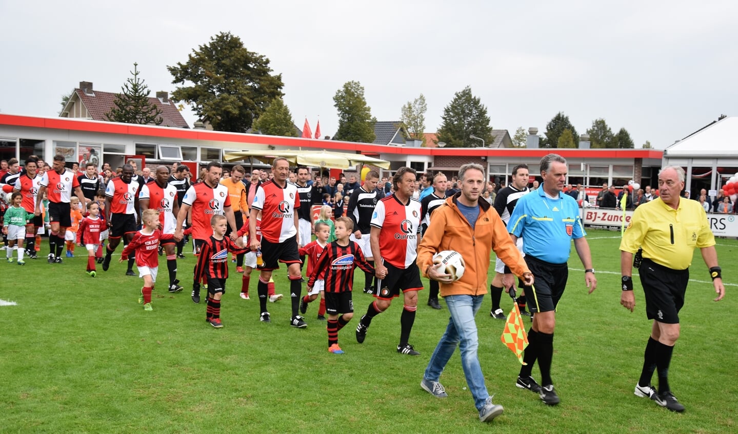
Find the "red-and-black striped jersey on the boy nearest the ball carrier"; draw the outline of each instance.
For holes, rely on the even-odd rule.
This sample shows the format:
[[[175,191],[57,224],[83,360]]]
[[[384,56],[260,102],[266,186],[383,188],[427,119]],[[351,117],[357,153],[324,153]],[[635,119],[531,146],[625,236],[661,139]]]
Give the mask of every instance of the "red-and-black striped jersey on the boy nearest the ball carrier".
[[[349,241],[348,245],[339,245],[338,241],[331,242],[320,254],[317,263],[308,279],[308,287],[313,287],[320,274],[323,274],[326,293],[344,293],[354,287],[354,268],[359,266],[367,273],[374,273],[362,249],[356,242]]]

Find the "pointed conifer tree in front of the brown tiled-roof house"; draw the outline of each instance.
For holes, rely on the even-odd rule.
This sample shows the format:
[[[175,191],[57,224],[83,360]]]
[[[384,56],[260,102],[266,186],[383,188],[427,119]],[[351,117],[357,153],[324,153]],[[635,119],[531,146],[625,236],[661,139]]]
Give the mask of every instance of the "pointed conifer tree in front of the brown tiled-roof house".
[[[133,77],[125,80],[121,90],[123,93],[117,94],[105,118],[111,122],[123,122],[124,124],[140,124],[140,125],[161,125],[162,111],[156,105],[148,100],[148,86],[139,79],[138,63],[134,63],[134,70],[131,71]]]

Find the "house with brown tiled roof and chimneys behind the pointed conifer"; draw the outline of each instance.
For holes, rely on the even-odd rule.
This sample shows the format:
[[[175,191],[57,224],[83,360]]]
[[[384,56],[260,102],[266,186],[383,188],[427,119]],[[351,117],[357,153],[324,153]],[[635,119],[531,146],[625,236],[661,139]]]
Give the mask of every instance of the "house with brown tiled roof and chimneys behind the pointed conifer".
[[[118,94],[115,92],[96,91],[92,82],[80,81],[80,87],[72,91],[72,96],[61,111],[63,118],[93,119],[106,121],[106,113],[114,108]],[[169,99],[168,92],[156,92],[156,97],[149,97],[149,102],[162,111],[162,127],[189,128],[182,113]]]

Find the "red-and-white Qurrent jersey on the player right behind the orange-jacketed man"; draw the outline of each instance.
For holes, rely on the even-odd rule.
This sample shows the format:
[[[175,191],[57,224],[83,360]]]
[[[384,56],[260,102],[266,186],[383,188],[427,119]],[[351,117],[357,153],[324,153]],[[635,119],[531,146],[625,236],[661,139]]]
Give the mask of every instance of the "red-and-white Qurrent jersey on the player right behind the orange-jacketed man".
[[[376,203],[371,225],[382,229],[379,251],[382,259],[395,267],[410,267],[418,256],[420,209],[420,202],[413,197],[401,203],[395,195],[390,195]]]

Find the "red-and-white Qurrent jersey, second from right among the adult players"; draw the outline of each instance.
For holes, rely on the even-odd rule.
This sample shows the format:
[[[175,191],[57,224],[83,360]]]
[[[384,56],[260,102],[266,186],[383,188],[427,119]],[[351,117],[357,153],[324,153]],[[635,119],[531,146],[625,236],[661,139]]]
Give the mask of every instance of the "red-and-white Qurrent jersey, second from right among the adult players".
[[[261,236],[269,242],[285,242],[297,234],[294,213],[300,208],[300,195],[294,183],[280,187],[273,180],[258,186],[252,207],[261,209]]]

